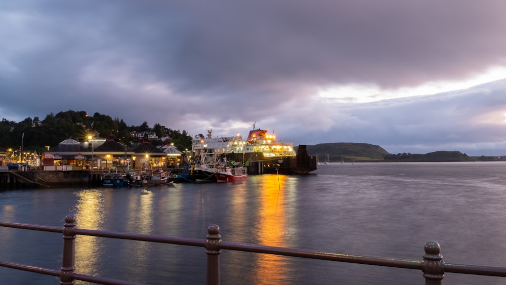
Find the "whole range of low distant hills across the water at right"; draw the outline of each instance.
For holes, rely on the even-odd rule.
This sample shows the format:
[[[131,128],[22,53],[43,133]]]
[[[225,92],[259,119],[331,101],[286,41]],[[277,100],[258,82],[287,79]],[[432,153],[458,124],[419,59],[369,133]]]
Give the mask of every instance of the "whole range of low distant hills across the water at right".
[[[433,162],[433,161],[496,161],[506,157],[468,156],[460,151],[434,151],[425,154],[398,153],[392,154],[379,145],[368,143],[321,143],[308,145],[309,155],[319,157],[319,162],[325,162],[327,155],[330,162]]]

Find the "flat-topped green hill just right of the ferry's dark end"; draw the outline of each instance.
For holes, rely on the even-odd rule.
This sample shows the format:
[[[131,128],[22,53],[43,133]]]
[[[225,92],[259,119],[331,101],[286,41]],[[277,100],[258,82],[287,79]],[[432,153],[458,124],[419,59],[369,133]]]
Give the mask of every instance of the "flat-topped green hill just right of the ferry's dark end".
[[[318,154],[320,162],[324,162],[327,153],[330,162],[341,162],[341,157],[345,162],[355,161],[382,161],[389,153],[379,145],[368,143],[320,143],[317,145],[308,145],[309,155]]]

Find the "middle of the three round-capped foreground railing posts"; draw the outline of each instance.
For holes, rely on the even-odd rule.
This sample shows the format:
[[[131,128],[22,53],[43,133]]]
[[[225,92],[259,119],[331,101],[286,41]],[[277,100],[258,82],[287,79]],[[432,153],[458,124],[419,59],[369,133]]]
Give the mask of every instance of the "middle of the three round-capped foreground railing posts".
[[[207,254],[207,285],[220,284],[220,227],[210,225],[207,228],[207,239],[205,240],[205,253]]]

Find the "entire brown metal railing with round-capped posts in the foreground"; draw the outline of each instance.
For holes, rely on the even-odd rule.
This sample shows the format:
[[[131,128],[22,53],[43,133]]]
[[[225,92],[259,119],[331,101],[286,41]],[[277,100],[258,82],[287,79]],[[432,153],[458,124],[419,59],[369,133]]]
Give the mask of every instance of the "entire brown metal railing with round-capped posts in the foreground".
[[[424,247],[425,254],[423,255],[422,260],[411,260],[411,259],[400,259],[390,257],[328,253],[328,252],[302,250],[294,248],[268,247],[259,245],[249,245],[245,243],[228,242],[223,241],[221,239],[220,227],[218,225],[210,225],[207,228],[206,239],[79,229],[76,227],[75,217],[73,215],[68,215],[65,217],[65,223],[63,225],[63,228],[44,225],[9,223],[9,222],[0,222],[0,226],[63,233],[63,255],[62,255],[62,267],[60,268],[60,270],[0,261],[0,266],[2,267],[9,267],[13,269],[25,270],[40,274],[58,276],[60,277],[60,284],[62,285],[74,284],[74,280],[89,281],[99,284],[118,284],[118,285],[139,284],[125,280],[117,280],[100,276],[79,274],[75,272],[76,268],[74,266],[74,256],[75,256],[74,241],[76,235],[89,235],[89,236],[120,238],[120,239],[130,239],[130,240],[140,240],[150,242],[171,243],[174,245],[205,248],[205,253],[207,254],[206,283],[209,285],[220,284],[220,253],[222,250],[273,254],[280,256],[310,258],[310,259],[397,267],[406,269],[417,269],[423,272],[426,285],[442,284],[444,274],[450,272],[506,277],[506,267],[478,266],[478,265],[454,264],[444,262],[443,257],[440,254],[441,247],[439,246],[439,243],[434,241],[429,241],[425,244]]]

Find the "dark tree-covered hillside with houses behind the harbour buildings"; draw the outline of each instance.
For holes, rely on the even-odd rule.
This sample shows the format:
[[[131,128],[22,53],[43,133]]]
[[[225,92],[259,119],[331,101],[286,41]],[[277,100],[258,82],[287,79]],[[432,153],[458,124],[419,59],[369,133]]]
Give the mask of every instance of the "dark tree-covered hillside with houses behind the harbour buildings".
[[[141,126],[128,126],[123,119],[111,118],[108,115],[94,113],[90,116],[85,111],[59,112],[48,114],[44,119],[28,117],[16,123],[3,118],[0,121],[0,147],[5,149],[32,149],[41,153],[47,146],[53,147],[61,141],[73,138],[77,141],[87,140],[89,134],[101,138],[114,137],[118,142],[130,146],[139,140],[131,132],[154,132],[158,139],[150,139],[154,145],[161,145],[163,135],[171,138],[171,143],[178,149],[190,149],[192,137],[185,131],[172,130],[156,123],[151,128],[145,121]]]

